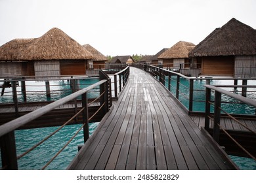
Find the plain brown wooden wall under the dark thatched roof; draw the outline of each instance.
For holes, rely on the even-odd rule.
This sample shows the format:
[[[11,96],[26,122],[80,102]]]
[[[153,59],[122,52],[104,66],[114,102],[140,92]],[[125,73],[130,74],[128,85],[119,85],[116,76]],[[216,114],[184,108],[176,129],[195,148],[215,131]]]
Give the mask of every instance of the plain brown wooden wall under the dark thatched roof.
[[[203,57],[202,75],[234,75],[234,56]]]

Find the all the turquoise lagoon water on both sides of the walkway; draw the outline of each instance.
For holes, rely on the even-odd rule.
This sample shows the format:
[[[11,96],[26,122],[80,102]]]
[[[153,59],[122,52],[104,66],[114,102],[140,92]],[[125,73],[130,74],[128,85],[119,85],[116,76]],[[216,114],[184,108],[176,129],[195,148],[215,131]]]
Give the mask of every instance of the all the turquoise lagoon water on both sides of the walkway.
[[[97,82],[98,79],[93,78],[91,80],[80,80],[80,88],[86,88],[90,84],[93,84]],[[182,84],[184,86],[188,86],[188,80],[181,80]],[[40,86],[43,83],[40,82],[31,82],[30,85],[38,85],[39,87],[35,88],[33,86],[28,87],[27,91],[29,90],[43,90],[40,88]],[[53,84],[55,85],[61,85],[61,86],[54,86],[51,88],[51,90],[59,90],[59,88],[67,90],[66,93],[56,93],[51,96],[51,98],[47,98],[45,95],[38,94],[38,95],[28,95],[28,101],[47,101],[47,100],[56,100],[60,99],[61,97],[64,97],[71,92],[68,91],[70,89],[69,83],[66,81],[54,81]],[[198,90],[203,90],[203,84],[205,84],[204,81],[197,80],[194,82],[195,88]],[[224,80],[219,82],[213,82],[211,84],[232,84],[230,80]],[[240,83],[238,83],[240,84]],[[255,84],[255,81],[248,81],[248,84]],[[173,89],[171,92],[175,95],[175,78],[172,81]],[[181,85],[181,90],[184,93],[187,93],[187,89]],[[10,91],[11,89],[7,89],[6,91]],[[230,88],[232,90],[232,88]],[[96,92],[96,91],[95,91]],[[95,93],[90,93],[91,97],[95,95]],[[188,94],[186,94],[188,95]],[[249,97],[256,98],[255,92],[249,93]],[[180,95],[181,102],[188,106],[188,100],[183,95]],[[194,92],[194,99],[200,101],[204,99],[204,92],[195,91]],[[22,101],[22,97],[19,97],[19,101]],[[230,100],[226,98],[226,100]],[[5,96],[0,97],[0,103],[6,103],[12,101],[11,97]],[[194,110],[196,111],[203,111],[204,109],[204,103],[202,102],[196,102],[193,106]],[[231,108],[230,106],[226,108]],[[255,108],[241,106],[241,105],[232,105],[234,113],[243,113],[243,114],[255,114]],[[90,124],[90,133],[93,133],[98,123]],[[47,161],[49,161],[55,154],[66,144],[66,142],[74,135],[74,133],[79,129],[81,125],[68,125],[58,131],[56,135],[53,135],[48,141],[44,142],[35,150],[24,156],[23,158],[20,158],[18,160],[18,169],[41,169]],[[17,155],[22,154],[28,148],[32,147],[37,142],[41,141],[44,137],[47,137],[51,132],[53,132],[57,127],[45,127],[45,128],[39,128],[39,129],[24,129],[15,131],[16,136],[16,148],[17,148]],[[61,152],[56,159],[47,167],[47,169],[66,169],[66,167],[69,165],[69,163],[74,158],[75,154],[77,154],[77,146],[83,144],[83,131],[80,131],[77,137]],[[256,161],[249,158],[240,158],[235,156],[230,156],[232,160],[238,164],[240,169],[253,169],[256,170]],[[0,166],[1,166],[1,159],[0,159]]]

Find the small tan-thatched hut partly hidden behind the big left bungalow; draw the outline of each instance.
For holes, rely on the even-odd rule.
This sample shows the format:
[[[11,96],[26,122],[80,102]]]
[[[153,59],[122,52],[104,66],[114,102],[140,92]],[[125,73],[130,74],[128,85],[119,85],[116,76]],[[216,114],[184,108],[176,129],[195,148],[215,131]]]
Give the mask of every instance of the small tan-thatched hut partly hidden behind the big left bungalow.
[[[88,69],[105,69],[105,61],[108,61],[108,58],[100,53],[98,50],[93,48],[90,44],[83,45],[83,48],[89,52],[94,59],[91,59],[87,62]]]

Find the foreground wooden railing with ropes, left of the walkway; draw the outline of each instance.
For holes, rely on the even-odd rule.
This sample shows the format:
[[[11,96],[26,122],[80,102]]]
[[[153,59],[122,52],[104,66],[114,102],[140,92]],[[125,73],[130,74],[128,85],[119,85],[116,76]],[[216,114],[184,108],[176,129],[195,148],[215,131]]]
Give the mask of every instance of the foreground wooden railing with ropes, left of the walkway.
[[[95,101],[100,100],[100,106],[99,106],[98,110],[95,112],[95,114],[93,114],[92,116],[89,116],[88,106],[91,103],[94,103],[95,101],[92,101],[90,104],[88,104],[87,94],[91,90],[95,90],[95,88],[98,88],[98,87],[100,88],[100,94],[95,99]],[[1,144],[1,159],[3,160],[2,161],[3,169],[18,169],[17,159],[21,158],[22,156],[25,155],[25,154],[22,154],[20,156],[16,155],[14,130],[18,129],[19,127],[22,127],[22,125],[32,122],[33,120],[35,120],[36,118],[39,118],[40,116],[43,116],[43,114],[47,114],[47,112],[51,112],[51,110],[54,110],[54,108],[60,107],[61,105],[64,105],[65,103],[68,103],[69,101],[76,100],[77,97],[81,97],[82,108],[81,108],[81,110],[77,111],[76,114],[74,116],[72,116],[72,118],[70,118],[70,120],[68,120],[68,122],[66,122],[64,125],[66,125],[69,122],[71,122],[72,120],[74,120],[74,118],[78,114],[81,113],[83,116],[83,125],[81,126],[79,131],[81,129],[83,129],[84,141],[87,141],[87,139],[89,138],[89,125],[88,124],[89,124],[89,121],[91,120],[91,118],[93,118],[93,116],[95,116],[96,113],[98,113],[98,112],[100,112],[102,114],[106,114],[106,112],[108,112],[108,110],[110,110],[110,107],[112,105],[111,81],[110,81],[110,78],[102,71],[100,71],[100,81],[99,82],[96,82],[95,84],[92,84],[91,86],[84,88],[82,90],[79,90],[77,92],[74,92],[62,99],[59,99],[58,101],[54,101],[53,103],[50,103],[49,105],[46,105],[45,107],[34,110],[33,112],[30,112],[29,114],[21,116],[20,118],[16,118],[15,120],[12,120],[11,122],[1,125],[0,126],[0,144]],[[62,125],[62,127],[64,125]],[[54,133],[56,133],[56,131]],[[75,133],[75,135],[77,135],[77,133]],[[43,139],[39,144],[46,141],[47,139],[49,139],[49,137],[47,137],[46,139]],[[72,139],[74,139],[74,137],[72,137]],[[72,139],[70,139],[70,141],[72,141]],[[69,142],[67,142],[67,144]],[[35,148],[39,144],[36,144],[35,146],[33,146],[33,148]],[[62,148],[62,150],[66,147],[66,145]],[[33,150],[33,148],[30,150]],[[28,150],[26,153],[30,152],[30,150]],[[58,156],[58,154],[56,154],[56,156]],[[56,158],[56,156],[54,156],[53,159]],[[49,161],[49,163],[51,163],[51,161],[53,161],[53,159],[51,159]],[[47,165],[49,165],[49,163],[47,163]],[[45,165],[45,167],[47,167],[47,165]],[[43,167],[42,169],[45,169],[45,167]]]

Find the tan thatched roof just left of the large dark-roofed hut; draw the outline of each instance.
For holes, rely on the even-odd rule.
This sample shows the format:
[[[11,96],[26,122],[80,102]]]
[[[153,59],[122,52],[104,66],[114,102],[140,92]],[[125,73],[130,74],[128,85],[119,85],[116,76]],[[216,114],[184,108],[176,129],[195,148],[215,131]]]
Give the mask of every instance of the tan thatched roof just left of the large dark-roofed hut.
[[[158,59],[188,58],[188,53],[196,45],[191,42],[179,41],[163,52]]]

